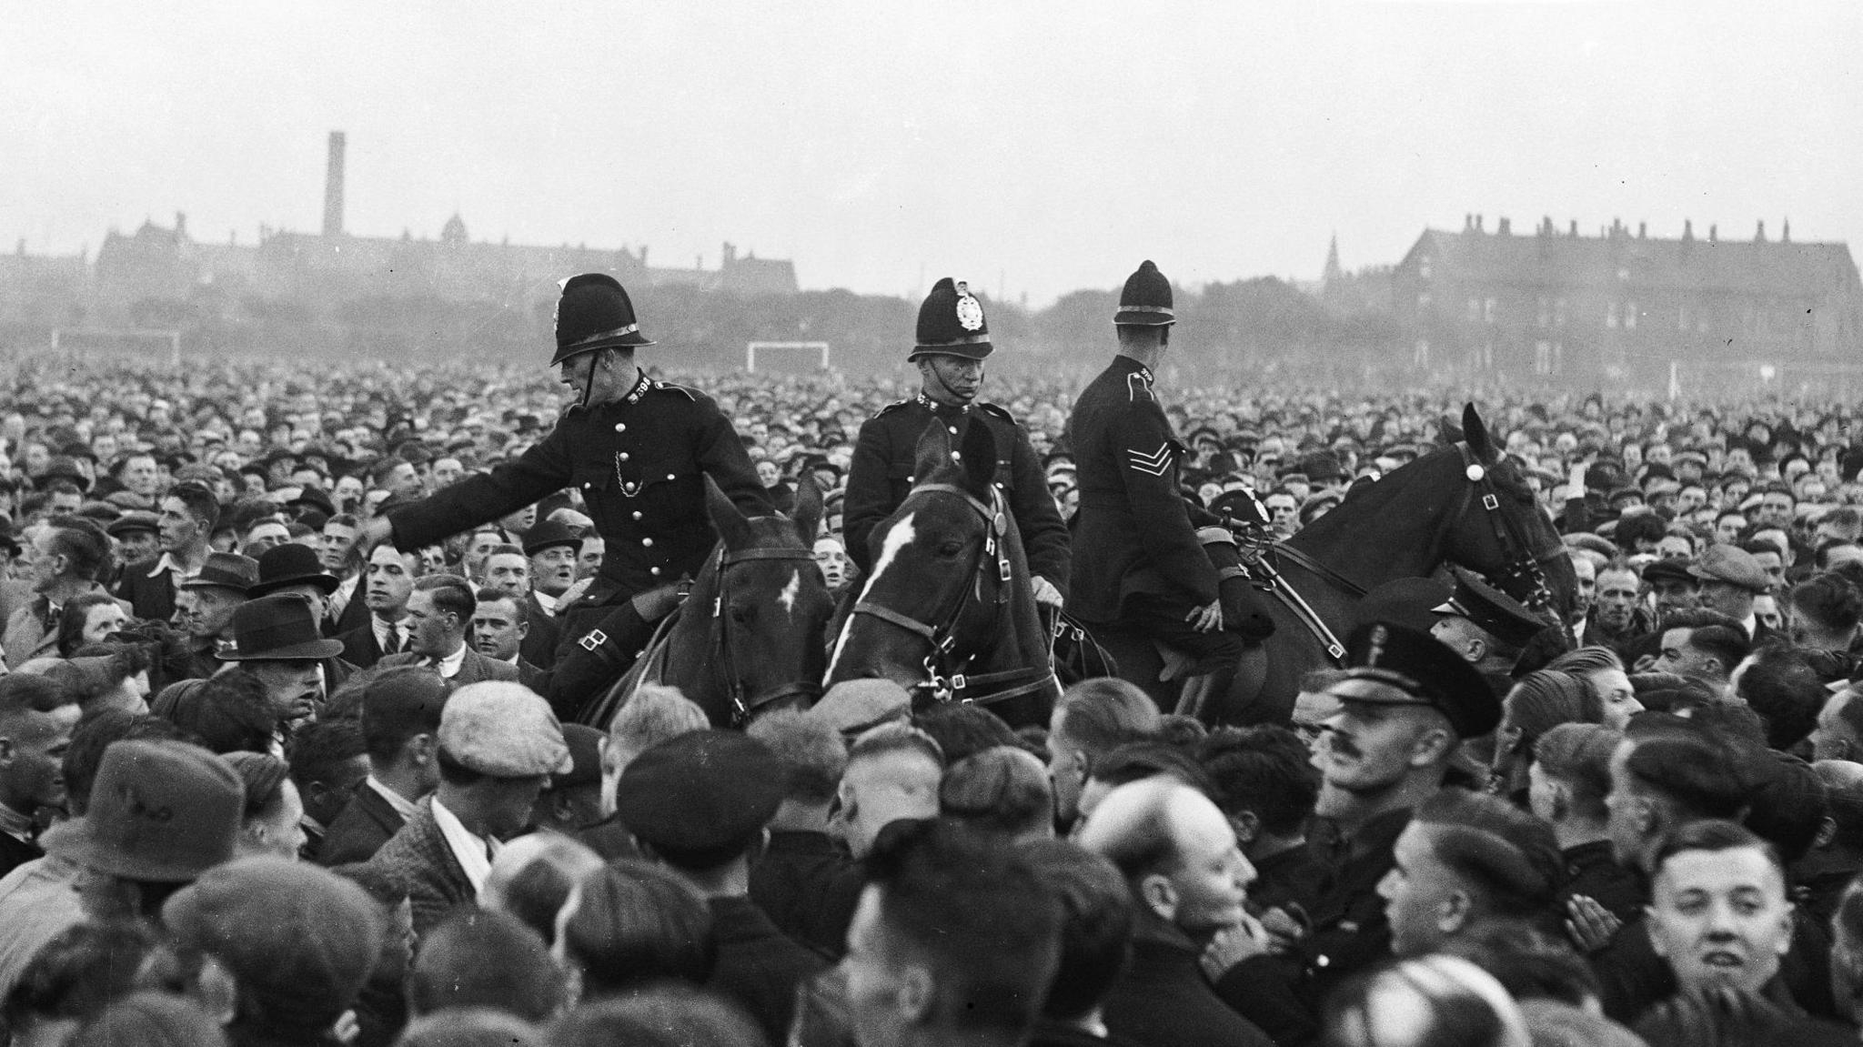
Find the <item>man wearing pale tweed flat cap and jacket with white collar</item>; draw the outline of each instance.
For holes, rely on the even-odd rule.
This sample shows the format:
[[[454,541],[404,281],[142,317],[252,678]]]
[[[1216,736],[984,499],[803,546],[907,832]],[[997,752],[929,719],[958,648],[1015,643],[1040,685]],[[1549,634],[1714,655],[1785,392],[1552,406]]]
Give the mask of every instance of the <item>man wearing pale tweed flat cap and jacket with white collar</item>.
[[[440,712],[440,788],[369,864],[408,889],[414,933],[479,900],[550,775],[572,769],[550,702],[514,682],[460,687]]]

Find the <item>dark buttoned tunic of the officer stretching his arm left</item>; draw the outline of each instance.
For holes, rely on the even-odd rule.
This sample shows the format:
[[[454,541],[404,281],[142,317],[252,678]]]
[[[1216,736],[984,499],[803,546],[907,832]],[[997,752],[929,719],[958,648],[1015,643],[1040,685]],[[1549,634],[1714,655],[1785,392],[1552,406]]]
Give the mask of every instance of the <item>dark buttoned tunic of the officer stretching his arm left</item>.
[[[395,510],[395,546],[430,546],[574,486],[607,544],[583,604],[613,604],[699,574],[717,542],[706,475],[747,516],[771,514],[743,442],[712,397],[641,373],[617,401],[568,408],[516,462]]]

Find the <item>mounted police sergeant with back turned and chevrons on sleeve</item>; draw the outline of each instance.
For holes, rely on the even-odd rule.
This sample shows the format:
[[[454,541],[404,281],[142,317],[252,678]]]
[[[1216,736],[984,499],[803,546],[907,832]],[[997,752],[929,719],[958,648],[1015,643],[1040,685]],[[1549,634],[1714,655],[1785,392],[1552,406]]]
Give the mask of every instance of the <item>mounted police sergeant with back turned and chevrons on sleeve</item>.
[[[1103,639],[1142,637],[1185,656],[1187,674],[1222,686],[1243,656],[1243,639],[1224,632],[1217,568],[1198,540],[1198,524],[1177,488],[1189,451],[1153,391],[1153,369],[1170,347],[1170,281],[1149,261],[1120,292],[1112,319],[1120,337],[1112,365],[1081,393],[1069,419],[1081,512],[1067,611]],[[1155,680],[1133,680],[1157,691]],[[1159,697],[1155,693],[1155,697]]]

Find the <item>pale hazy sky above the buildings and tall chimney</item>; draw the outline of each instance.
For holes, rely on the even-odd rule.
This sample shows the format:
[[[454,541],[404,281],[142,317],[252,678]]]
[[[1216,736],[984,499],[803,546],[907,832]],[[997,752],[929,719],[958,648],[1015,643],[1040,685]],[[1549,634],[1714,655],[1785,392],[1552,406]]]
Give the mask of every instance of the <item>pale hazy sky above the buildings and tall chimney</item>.
[[[1045,306],[1425,227],[1863,242],[1863,4],[7,4],[0,244],[317,231],[794,259]]]

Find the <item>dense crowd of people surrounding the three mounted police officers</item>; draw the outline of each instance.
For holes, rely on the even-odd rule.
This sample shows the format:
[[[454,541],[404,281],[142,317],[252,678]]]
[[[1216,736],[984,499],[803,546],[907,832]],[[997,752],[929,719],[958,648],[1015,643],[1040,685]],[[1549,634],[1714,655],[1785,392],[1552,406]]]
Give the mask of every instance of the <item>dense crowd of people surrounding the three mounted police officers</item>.
[[[553,361],[583,408],[589,345]],[[1461,408],[1159,373],[1183,497],[1246,488],[1280,537]],[[974,397],[980,354],[950,374]],[[1064,527],[1082,384],[991,382]],[[857,585],[863,427],[922,389],[693,386],[768,505],[823,494],[816,561]],[[570,609],[654,503],[486,475],[563,438],[546,374],[24,360],[13,388],[13,1043],[1666,1047],[1863,1023],[1854,406],[1494,395],[1574,563],[1567,619],[1449,576],[1360,626],[1285,725],[1092,678],[1012,730],[857,680],[740,732],[671,687],[568,723]],[[445,533],[447,490],[505,501]],[[678,600],[626,596],[646,622]]]

